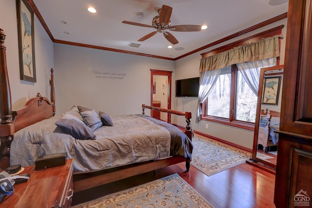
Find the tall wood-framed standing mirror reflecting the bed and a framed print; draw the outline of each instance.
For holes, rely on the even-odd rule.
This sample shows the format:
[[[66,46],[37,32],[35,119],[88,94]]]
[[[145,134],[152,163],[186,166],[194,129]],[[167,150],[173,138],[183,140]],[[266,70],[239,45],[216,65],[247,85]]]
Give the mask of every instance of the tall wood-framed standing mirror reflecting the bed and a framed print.
[[[284,65],[261,68],[251,159],[276,168]]]

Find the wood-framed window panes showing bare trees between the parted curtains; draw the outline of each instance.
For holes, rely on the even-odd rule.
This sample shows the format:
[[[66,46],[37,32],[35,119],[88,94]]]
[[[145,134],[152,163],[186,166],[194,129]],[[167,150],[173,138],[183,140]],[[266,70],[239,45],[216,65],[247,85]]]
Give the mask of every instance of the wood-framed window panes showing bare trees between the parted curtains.
[[[203,120],[253,129],[257,95],[250,89],[236,65],[221,73],[203,107]]]

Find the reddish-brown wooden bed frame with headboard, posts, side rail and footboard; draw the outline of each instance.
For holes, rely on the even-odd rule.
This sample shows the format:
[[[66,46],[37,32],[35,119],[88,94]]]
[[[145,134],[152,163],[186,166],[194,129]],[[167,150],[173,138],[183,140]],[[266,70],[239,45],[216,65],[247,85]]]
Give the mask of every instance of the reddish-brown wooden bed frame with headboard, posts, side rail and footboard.
[[[12,112],[4,39],[5,34],[0,28],[0,169],[2,170],[10,166],[10,145],[14,138],[14,133],[43,119],[52,117],[56,112],[53,69],[51,69],[51,101],[38,93],[36,97],[29,99],[20,110]],[[155,107],[143,104],[143,114],[145,108],[176,115],[185,115],[187,122],[185,133],[192,139],[193,131],[190,125],[192,114],[190,112],[182,113],[167,109],[156,109]],[[91,189],[181,162],[186,163],[186,171],[189,171],[190,161],[180,156],[174,156],[94,172],[74,172],[74,191],[78,192]]]

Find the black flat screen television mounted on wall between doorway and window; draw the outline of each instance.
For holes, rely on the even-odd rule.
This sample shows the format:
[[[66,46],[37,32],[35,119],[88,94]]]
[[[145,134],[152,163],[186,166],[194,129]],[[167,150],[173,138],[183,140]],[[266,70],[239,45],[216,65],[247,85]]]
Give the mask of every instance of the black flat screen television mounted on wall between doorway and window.
[[[199,77],[176,80],[176,97],[198,97]]]

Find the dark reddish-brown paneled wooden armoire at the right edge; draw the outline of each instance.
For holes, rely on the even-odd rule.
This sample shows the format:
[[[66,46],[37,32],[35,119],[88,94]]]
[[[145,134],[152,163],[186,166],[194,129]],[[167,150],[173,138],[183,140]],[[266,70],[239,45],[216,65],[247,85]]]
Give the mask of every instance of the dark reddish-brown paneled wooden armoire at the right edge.
[[[312,0],[289,0],[276,208],[312,207]]]

